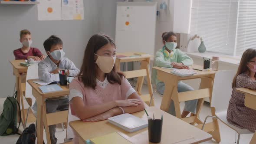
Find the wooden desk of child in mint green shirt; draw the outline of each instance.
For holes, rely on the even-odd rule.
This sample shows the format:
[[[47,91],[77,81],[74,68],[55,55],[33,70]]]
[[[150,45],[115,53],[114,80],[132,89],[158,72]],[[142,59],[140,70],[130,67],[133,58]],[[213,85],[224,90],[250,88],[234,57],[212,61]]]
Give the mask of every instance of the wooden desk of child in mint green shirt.
[[[164,82],[165,84],[164,95],[160,109],[168,112],[172,99],[174,101],[176,117],[182,119],[183,121],[186,121],[187,123],[192,123],[193,125],[198,124],[196,127],[201,129],[203,126],[203,122],[200,121],[198,116],[203,106],[204,98],[209,97],[211,101],[215,72],[194,70],[195,72],[197,72],[197,74],[187,77],[180,77],[171,74],[171,69],[164,69],[160,67],[153,67],[153,69],[157,70],[158,79]],[[203,66],[192,65],[190,66],[190,69],[203,69]],[[178,92],[178,81],[187,79],[201,79],[199,90],[189,92]],[[191,114],[191,116],[187,118],[181,118],[180,102],[193,99],[198,99],[197,113]],[[212,114],[214,114],[214,111],[215,109],[211,108]],[[209,134],[212,134],[215,141],[220,142],[220,131],[217,119],[213,119],[212,122],[207,123],[204,127],[204,131],[208,132]]]

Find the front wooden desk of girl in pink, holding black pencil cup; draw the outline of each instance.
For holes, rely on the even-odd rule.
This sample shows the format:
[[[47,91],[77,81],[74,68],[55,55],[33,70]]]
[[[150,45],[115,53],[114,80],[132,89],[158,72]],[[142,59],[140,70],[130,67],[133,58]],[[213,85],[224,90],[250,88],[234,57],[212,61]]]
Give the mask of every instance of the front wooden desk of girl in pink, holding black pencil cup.
[[[204,141],[209,141],[212,138],[210,134],[195,128],[158,108],[148,107],[146,110],[151,117],[153,113],[155,118],[161,118],[161,115],[164,115],[160,144],[198,144]],[[139,111],[132,115],[146,120],[148,119],[144,111]],[[110,134],[112,132],[122,132],[126,134],[135,144],[149,144],[148,128],[129,133],[108,123],[107,120],[98,122],[84,122],[78,120],[69,122],[69,125],[73,131],[78,134],[79,144],[85,144],[85,140],[87,139]]]

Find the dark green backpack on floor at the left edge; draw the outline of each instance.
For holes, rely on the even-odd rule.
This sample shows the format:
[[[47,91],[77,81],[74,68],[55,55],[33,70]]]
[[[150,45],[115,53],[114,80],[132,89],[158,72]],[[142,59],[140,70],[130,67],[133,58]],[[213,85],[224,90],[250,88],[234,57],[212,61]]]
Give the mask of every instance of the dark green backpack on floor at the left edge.
[[[17,105],[19,108],[20,121],[21,112],[20,104],[16,100],[17,91],[12,97],[7,97],[3,103],[3,113],[0,115],[0,135],[6,136],[11,134],[18,134],[20,123],[17,128]]]

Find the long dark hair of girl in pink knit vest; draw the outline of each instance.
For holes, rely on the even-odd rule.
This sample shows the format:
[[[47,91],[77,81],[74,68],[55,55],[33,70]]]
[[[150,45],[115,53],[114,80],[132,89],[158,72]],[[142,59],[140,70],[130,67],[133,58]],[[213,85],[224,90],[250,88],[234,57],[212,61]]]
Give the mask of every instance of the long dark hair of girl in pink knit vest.
[[[114,41],[103,33],[93,35],[85,48],[84,59],[78,75],[79,81],[83,82],[85,87],[96,88],[96,77],[98,66],[95,64],[94,54],[106,44],[111,43],[115,46]],[[108,82],[111,84],[118,83],[121,85],[121,78],[123,73],[117,72],[116,66],[111,72],[107,73]]]

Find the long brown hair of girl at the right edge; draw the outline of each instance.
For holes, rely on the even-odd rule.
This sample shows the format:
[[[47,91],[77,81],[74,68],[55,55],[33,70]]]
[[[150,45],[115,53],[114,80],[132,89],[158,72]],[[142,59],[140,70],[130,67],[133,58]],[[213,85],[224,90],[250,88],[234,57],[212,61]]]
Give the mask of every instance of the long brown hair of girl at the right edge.
[[[238,75],[245,73],[249,71],[249,68],[247,66],[247,63],[250,62],[251,59],[256,57],[256,49],[246,49],[245,52],[243,52],[243,56],[240,61],[240,65],[237,69],[236,76],[233,79],[232,88],[236,88],[236,78]],[[256,76],[256,75],[255,75]]]

